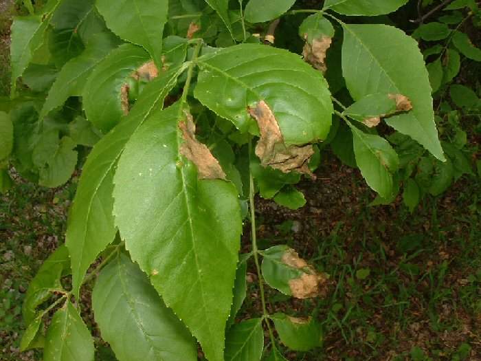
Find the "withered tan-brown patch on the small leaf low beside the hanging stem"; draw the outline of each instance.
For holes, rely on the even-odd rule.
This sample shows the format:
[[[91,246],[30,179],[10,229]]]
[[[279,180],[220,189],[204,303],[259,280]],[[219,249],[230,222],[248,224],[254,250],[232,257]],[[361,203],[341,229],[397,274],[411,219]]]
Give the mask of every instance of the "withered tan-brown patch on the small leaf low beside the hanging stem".
[[[295,298],[326,296],[328,276],[316,272],[313,266],[307,264],[304,259],[299,257],[298,252],[289,248],[289,250],[282,254],[281,261],[297,270],[304,271],[299,278],[292,278],[288,282],[292,296]]]

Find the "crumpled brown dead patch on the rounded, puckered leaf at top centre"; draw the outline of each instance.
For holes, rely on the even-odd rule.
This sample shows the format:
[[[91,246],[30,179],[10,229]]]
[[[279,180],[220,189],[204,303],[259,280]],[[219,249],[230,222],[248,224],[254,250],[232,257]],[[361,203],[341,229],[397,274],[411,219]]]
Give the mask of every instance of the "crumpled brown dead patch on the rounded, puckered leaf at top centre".
[[[257,102],[256,108],[247,108],[247,112],[259,126],[260,139],[256,146],[256,155],[262,166],[271,166],[284,173],[298,171],[315,179],[315,175],[307,167],[307,162],[314,154],[312,144],[286,146],[279,124],[264,100]]]

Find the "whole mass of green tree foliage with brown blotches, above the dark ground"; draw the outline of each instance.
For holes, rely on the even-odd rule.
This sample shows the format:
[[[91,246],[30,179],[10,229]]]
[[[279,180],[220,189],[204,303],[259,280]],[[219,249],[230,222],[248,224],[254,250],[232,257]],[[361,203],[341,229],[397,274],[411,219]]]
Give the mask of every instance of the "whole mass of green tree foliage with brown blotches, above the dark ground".
[[[285,360],[274,330],[292,350],[319,347],[320,322],[269,314],[264,287],[320,297],[328,275],[287,245],[258,250],[254,195],[300,208],[295,184],[315,179],[329,146],[359,167],[380,203],[401,184],[406,203],[418,201],[418,163],[435,169],[431,193],[444,188],[458,153],[438,140],[433,74],[444,67],[449,83],[453,67],[428,72],[411,36],[351,21],[406,2],[326,0],[302,10],[293,0],[49,0],[16,17],[11,109],[0,113],[2,188],[8,164],[49,187],[82,168],[65,245],[27,290],[21,349],[93,360],[78,303],[91,283],[102,338],[121,361],[197,360],[198,347],[210,361]],[[297,39],[282,39],[287,25]],[[423,29],[424,39],[432,34]],[[465,34],[453,43],[478,54],[463,47]],[[449,61],[458,54],[443,52]],[[16,87],[20,79],[27,87]],[[238,322],[250,258],[262,309]]]

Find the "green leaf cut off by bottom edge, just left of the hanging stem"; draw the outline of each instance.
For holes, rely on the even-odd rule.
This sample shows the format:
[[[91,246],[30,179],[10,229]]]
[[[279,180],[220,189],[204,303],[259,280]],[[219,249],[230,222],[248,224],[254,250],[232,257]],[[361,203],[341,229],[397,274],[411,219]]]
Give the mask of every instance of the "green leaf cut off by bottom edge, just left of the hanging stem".
[[[234,324],[225,335],[226,361],[259,361],[264,349],[262,318]]]

